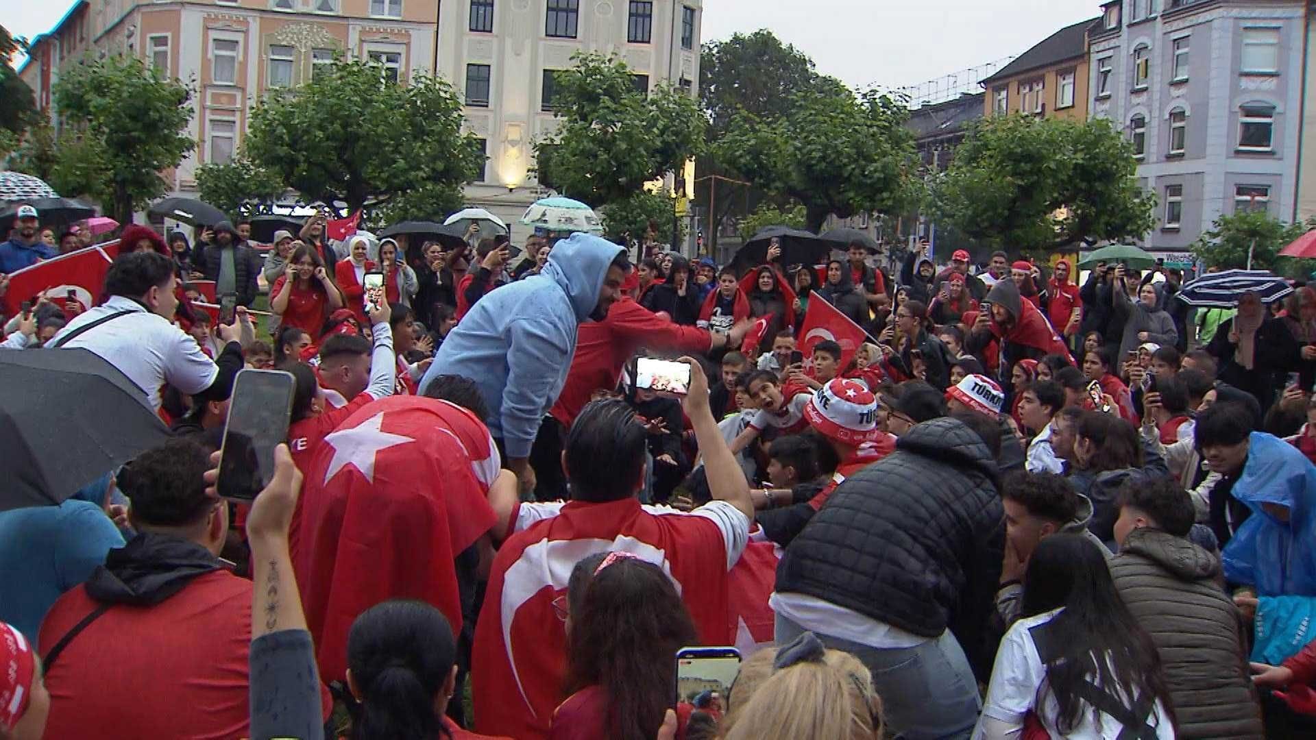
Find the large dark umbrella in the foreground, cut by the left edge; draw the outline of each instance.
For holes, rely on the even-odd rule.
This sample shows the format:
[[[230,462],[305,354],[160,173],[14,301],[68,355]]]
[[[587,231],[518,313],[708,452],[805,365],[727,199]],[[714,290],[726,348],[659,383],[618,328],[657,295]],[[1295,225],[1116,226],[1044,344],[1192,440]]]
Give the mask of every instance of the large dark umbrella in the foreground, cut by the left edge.
[[[0,352],[0,511],[58,504],[166,440],[141,388],[89,350]]]

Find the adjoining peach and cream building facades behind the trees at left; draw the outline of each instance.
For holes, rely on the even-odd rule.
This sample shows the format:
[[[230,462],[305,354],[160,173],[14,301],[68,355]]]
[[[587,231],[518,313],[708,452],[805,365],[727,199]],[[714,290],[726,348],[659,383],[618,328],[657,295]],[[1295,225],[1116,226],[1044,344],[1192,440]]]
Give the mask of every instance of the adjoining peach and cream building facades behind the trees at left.
[[[241,145],[254,101],[336,54],[403,82],[438,74],[465,96],[467,130],[488,157],[468,200],[512,221],[542,195],[533,142],[553,130],[551,71],[575,51],[616,53],[637,87],[694,93],[701,16],[701,0],[78,0],[33,40],[20,75],[42,109],[83,54],[137,54],[192,82],[197,149],[172,172],[175,194],[190,195],[199,165]]]

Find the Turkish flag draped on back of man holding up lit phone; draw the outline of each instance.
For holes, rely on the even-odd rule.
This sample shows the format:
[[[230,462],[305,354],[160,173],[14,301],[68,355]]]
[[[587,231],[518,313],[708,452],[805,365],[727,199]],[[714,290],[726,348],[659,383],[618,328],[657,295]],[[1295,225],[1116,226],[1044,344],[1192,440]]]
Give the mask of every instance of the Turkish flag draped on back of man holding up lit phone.
[[[740,516],[740,515],[737,515]],[[726,545],[695,512],[607,503],[525,503],[513,521],[533,519],[499,548],[471,652],[476,731],[519,740],[549,736],[566,678],[566,629],[553,600],[571,570],[594,553],[621,550],[658,565],[675,581],[703,645],[729,645]]]

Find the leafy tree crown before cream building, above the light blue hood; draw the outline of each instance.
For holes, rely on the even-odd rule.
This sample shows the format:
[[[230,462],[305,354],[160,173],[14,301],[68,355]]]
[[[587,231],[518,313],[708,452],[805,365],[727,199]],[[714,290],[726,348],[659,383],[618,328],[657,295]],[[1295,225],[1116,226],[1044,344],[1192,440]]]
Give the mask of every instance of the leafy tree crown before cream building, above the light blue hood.
[[[678,88],[640,93],[625,62],[576,54],[557,74],[559,126],[536,142],[540,170],[553,187],[599,208],[636,196],[646,182],[680,172],[704,146],[707,121]]]

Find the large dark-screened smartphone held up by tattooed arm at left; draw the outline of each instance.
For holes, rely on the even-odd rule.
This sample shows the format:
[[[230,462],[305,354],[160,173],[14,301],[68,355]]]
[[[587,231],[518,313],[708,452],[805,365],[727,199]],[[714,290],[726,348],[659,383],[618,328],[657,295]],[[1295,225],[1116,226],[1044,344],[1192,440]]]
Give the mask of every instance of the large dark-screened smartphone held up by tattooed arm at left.
[[[229,398],[216,487],[226,499],[249,502],[274,478],[274,448],[288,438],[297,383],[283,370],[240,370]]]

